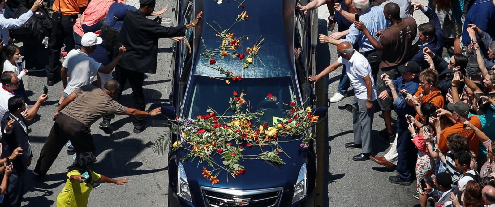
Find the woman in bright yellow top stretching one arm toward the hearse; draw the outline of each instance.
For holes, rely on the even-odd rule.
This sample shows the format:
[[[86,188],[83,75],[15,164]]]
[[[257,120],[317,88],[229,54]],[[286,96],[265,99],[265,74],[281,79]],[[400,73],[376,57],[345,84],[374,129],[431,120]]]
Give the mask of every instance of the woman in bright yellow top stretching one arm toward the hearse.
[[[93,172],[96,157],[91,152],[77,155],[76,161],[67,169],[67,182],[57,197],[57,207],[87,207],[93,182],[115,183],[125,185],[129,179],[114,180]],[[87,172],[87,173],[85,173]],[[86,177],[88,176],[88,177]]]

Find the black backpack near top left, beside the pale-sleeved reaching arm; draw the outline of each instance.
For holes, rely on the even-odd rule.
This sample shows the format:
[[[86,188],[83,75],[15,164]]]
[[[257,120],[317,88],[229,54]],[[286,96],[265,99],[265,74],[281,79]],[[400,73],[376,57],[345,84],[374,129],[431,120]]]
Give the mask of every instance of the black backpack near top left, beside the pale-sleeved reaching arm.
[[[29,8],[21,6],[14,12],[14,18],[19,18],[26,13]],[[51,21],[44,8],[38,8],[24,25],[17,29],[10,30],[10,37],[13,39],[31,44],[41,44],[45,37],[51,35]]]

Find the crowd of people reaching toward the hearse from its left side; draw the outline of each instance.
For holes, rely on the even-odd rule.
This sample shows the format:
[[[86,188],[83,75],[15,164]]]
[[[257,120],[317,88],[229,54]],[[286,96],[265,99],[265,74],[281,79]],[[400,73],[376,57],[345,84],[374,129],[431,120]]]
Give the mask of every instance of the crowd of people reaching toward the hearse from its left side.
[[[196,26],[202,15],[198,12],[186,25],[165,27],[161,16],[154,20],[148,16],[162,14],[168,5],[154,11],[155,0],[139,4],[136,8],[125,0],[1,0],[0,207],[21,206],[32,157],[39,154],[33,173],[43,177],[64,146],[74,162],[60,178],[67,181],[57,207],[86,207],[91,190],[100,183],[129,182],[95,172],[91,125],[103,117],[99,127],[109,128],[114,115],[127,115],[133,117],[134,133],[143,132],[147,127],[143,118],[160,114],[159,107],[146,110],[143,94],[145,73],[156,73],[158,40],[183,40],[186,29]],[[16,42],[22,42],[24,50]],[[48,100],[48,88],[29,107],[27,103],[33,102],[22,78],[40,71],[46,71],[49,87],[54,89],[61,81],[63,88],[50,89],[61,92],[59,105],[41,152],[33,152],[28,122]],[[134,108],[119,103],[126,82]]]

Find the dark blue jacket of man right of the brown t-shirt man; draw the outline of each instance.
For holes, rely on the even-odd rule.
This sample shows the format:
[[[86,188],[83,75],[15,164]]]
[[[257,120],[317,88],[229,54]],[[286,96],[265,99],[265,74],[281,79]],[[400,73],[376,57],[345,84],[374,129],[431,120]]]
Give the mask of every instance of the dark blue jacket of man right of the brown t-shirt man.
[[[442,31],[442,25],[440,24],[440,19],[438,18],[437,13],[435,13],[435,10],[430,9],[425,6],[426,11],[423,12],[428,19],[430,19],[430,24],[433,24],[435,26],[435,38],[426,46],[430,48],[432,52],[435,54],[442,55],[442,52],[444,51],[444,32]],[[412,57],[412,60],[416,61],[421,67],[423,68],[428,68],[430,65],[424,58],[424,53],[423,50],[420,49],[414,57]]]

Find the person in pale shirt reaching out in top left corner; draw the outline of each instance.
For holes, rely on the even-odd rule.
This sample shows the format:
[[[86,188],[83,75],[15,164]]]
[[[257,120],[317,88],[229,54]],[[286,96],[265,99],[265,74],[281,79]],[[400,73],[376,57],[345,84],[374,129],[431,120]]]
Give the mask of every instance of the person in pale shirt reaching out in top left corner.
[[[27,11],[26,13],[23,13],[19,18],[14,19],[14,18],[5,18],[3,17],[3,9],[5,8],[5,2],[6,0],[1,0],[0,2],[0,35],[3,37],[3,45],[7,45],[10,35],[8,33],[9,29],[17,29],[21,27],[26,21],[28,21],[29,18],[33,15],[33,12],[36,11],[39,7],[43,5],[43,0],[36,0],[34,2],[34,5],[31,7],[31,10]]]

